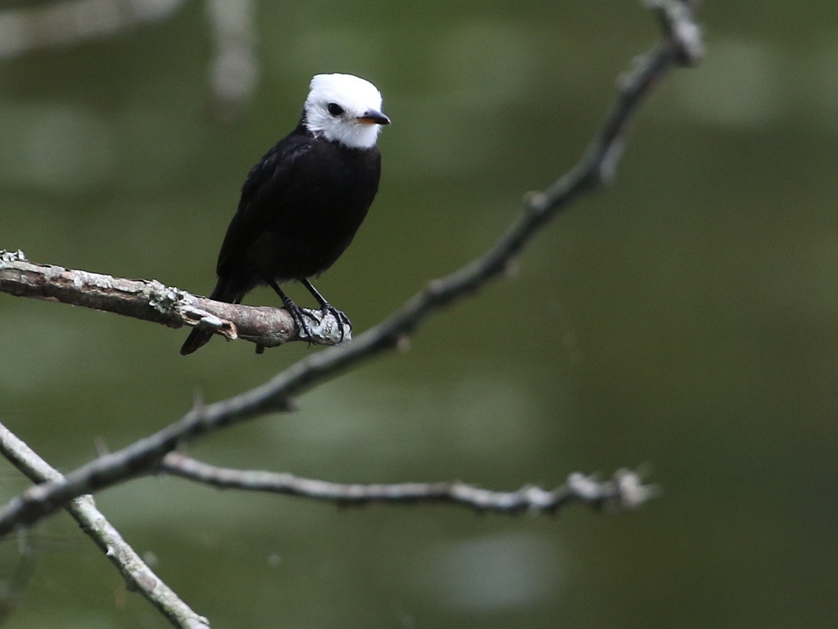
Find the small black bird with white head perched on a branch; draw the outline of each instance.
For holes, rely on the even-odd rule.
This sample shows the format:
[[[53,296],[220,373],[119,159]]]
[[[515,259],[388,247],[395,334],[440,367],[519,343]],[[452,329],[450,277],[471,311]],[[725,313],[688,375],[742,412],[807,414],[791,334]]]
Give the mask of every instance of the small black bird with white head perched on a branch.
[[[330,268],[349,247],[378,192],[376,147],[390,118],[370,81],[348,74],[314,75],[297,127],[247,174],[227,228],[209,299],[241,304],[259,285],[270,286],[310,338],[308,315],[280,284],[297,281],[333,314],[341,340],[349,319],[314,288],[310,278]],[[351,329],[351,326],[350,326]],[[212,330],[194,328],[183,356],[204,346]]]

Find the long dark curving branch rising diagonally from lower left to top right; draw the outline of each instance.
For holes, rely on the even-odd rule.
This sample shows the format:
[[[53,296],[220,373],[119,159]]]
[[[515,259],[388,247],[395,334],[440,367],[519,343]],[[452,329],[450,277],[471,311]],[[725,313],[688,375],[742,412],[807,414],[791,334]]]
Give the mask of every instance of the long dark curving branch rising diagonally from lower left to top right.
[[[579,163],[544,193],[529,195],[525,212],[484,256],[431,282],[390,318],[367,330],[347,346],[330,347],[289,367],[260,387],[207,406],[196,405],[175,424],[111,455],[70,472],[62,481],[30,487],[0,509],[0,535],[18,524],[49,515],[80,494],[116,484],[159,465],[178,444],[210,430],[292,406],[292,397],[349,366],[399,346],[427,317],[497,278],[548,221],[582,192],[592,190],[613,173],[622,153],[629,122],[652,87],[674,65],[691,65],[701,52],[701,34],[691,22],[691,2],[654,0],[652,8],[664,24],[664,39],[639,59],[619,84],[619,95],[602,130]],[[677,36],[675,36],[677,34]],[[689,44],[689,45],[687,45]]]

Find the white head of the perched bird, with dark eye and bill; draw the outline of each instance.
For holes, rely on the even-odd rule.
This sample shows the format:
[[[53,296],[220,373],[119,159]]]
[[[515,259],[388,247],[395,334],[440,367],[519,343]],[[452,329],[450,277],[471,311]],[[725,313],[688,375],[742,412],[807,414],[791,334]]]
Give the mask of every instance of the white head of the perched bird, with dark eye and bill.
[[[372,148],[382,124],[381,93],[353,75],[315,75],[304,108],[305,125],[314,135],[348,148]]]

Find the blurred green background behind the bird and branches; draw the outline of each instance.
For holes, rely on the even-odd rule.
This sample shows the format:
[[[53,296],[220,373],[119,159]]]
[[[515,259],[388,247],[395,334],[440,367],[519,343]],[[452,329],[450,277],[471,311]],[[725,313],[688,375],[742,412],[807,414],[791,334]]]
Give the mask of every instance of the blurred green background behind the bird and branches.
[[[225,121],[201,2],[0,60],[0,248],[207,293],[247,170],[292,128],[311,75],[351,72],[394,122],[370,216],[318,282],[360,332],[484,251],[526,190],[571,166],[658,35],[634,0],[262,0],[255,18],[259,84]],[[660,85],[615,185],[543,231],[514,278],[297,413],[191,450],[332,481],[498,489],[644,464],[660,500],[503,517],[167,478],[99,495],[213,626],[834,626],[835,3],[705,3],[700,19],[706,61]],[[194,392],[224,398],[318,351],[215,340],[184,358],[184,330],[3,294],[0,321],[0,421],[61,470],[172,422]],[[7,500],[26,483],[2,469]],[[29,543],[37,564],[7,626],[164,626],[65,514]],[[0,579],[18,563],[0,543]]]

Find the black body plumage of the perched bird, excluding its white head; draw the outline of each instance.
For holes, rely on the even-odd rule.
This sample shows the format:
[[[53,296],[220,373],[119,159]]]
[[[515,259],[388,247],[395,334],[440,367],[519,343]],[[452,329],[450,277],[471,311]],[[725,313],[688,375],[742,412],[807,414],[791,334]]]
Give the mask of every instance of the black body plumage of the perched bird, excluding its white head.
[[[238,304],[257,285],[277,288],[323,273],[364,221],[380,172],[378,148],[349,148],[312,133],[303,113],[297,128],[247,175],[210,299]],[[279,292],[286,306],[293,305]],[[209,330],[192,330],[180,353],[196,351],[211,336]]]

